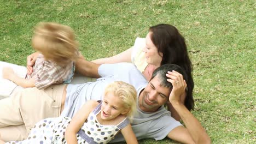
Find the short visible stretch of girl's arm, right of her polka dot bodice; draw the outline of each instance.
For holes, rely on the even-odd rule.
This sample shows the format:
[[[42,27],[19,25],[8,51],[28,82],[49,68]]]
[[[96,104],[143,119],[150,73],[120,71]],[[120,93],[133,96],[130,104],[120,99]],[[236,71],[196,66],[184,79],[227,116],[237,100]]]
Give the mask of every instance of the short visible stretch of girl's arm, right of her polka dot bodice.
[[[121,129],[121,133],[123,134],[127,144],[138,143],[136,136],[132,131],[131,124],[128,124],[125,128]]]

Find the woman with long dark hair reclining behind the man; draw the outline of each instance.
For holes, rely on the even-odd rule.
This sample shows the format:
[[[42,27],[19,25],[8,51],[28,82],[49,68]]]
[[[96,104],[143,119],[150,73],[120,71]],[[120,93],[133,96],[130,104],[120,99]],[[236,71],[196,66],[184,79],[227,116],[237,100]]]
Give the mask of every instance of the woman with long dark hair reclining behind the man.
[[[113,57],[96,59],[92,62],[118,63],[132,62],[143,73],[149,81],[153,71],[162,64],[177,64],[185,70],[188,76],[187,90],[182,95],[182,101],[188,110],[194,108],[193,88],[194,81],[191,75],[193,71],[191,61],[188,56],[187,45],[178,29],[168,24],[159,24],[149,28],[146,39],[137,38],[135,45],[130,49],[119,53]],[[181,119],[177,112],[168,105],[168,110],[177,121]]]

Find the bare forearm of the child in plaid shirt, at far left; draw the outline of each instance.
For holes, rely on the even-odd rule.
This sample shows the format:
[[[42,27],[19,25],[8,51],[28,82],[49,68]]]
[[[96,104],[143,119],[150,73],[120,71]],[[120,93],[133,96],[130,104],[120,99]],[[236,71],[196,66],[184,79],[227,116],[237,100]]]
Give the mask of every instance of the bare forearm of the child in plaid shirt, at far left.
[[[36,83],[36,80],[34,78],[31,78],[30,80],[21,78],[14,73],[13,69],[8,68],[8,67],[3,68],[3,78],[13,81],[17,85],[24,87],[24,88],[34,87],[35,86],[34,84]]]

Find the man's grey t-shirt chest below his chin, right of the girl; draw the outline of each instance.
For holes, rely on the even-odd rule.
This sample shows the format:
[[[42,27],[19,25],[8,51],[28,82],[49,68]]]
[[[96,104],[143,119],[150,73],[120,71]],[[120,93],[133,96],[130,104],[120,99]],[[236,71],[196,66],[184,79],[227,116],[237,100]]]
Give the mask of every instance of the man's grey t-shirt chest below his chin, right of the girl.
[[[137,106],[137,115],[131,123],[132,130],[138,140],[142,139],[164,139],[170,131],[180,125],[180,122],[171,117],[171,112],[161,106],[158,111],[149,113],[144,112]],[[125,141],[121,133],[116,135],[112,142]]]

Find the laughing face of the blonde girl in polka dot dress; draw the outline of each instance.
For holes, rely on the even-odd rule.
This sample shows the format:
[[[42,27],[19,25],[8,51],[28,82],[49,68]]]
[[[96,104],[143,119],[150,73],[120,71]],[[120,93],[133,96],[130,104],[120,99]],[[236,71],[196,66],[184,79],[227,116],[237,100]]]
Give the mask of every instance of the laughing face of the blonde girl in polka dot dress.
[[[111,120],[119,115],[125,115],[129,110],[123,106],[123,101],[113,92],[104,95],[101,105],[101,118],[103,120]]]

